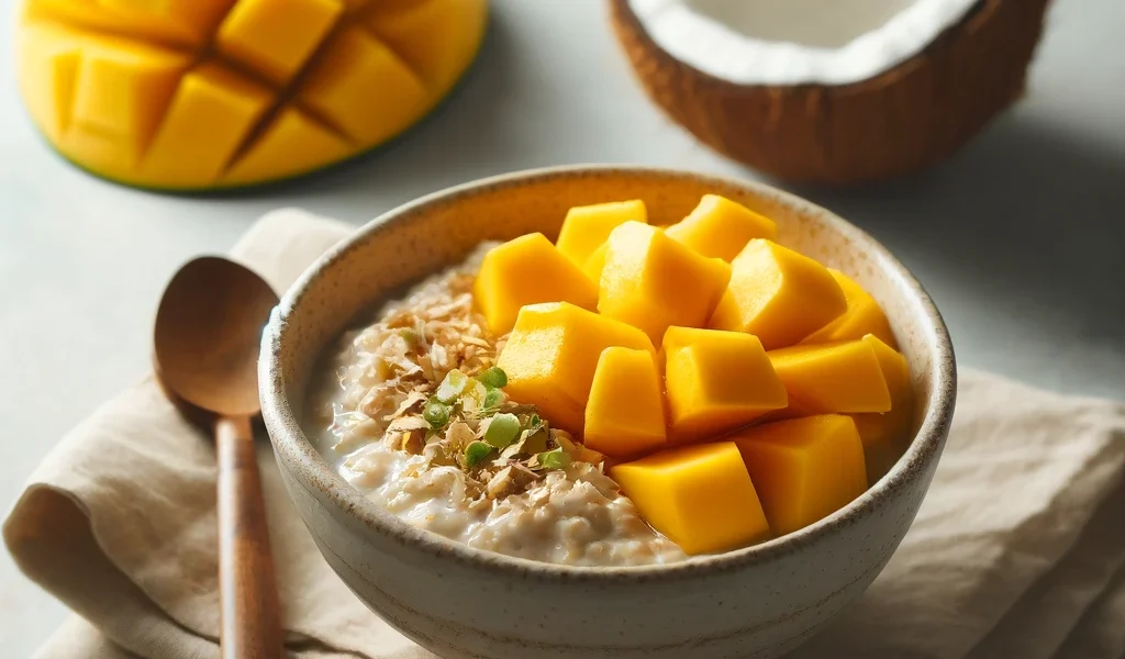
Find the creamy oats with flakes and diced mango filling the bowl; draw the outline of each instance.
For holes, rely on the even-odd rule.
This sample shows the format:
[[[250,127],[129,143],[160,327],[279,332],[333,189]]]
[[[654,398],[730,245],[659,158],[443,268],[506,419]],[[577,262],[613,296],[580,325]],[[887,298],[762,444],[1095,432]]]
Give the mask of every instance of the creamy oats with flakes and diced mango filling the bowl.
[[[322,356],[306,433],[406,523],[552,563],[669,563],[846,505],[909,424],[881,309],[730,200],[646,215],[576,207],[555,244],[480,244],[382,303]]]

